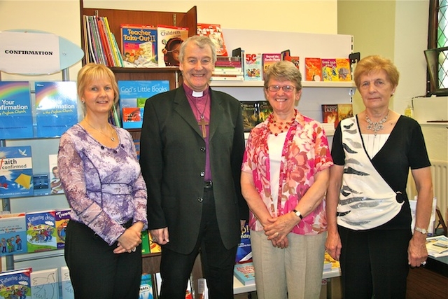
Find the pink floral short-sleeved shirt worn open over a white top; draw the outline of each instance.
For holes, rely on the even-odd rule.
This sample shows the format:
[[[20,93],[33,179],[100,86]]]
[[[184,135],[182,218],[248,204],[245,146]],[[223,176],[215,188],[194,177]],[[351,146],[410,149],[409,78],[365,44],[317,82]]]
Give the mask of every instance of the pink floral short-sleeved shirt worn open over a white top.
[[[314,182],[314,174],[333,163],[321,124],[297,111],[295,122],[286,134],[281,153],[279,197],[272,198],[267,122],[268,120],[265,120],[251,130],[241,170],[252,173],[255,188],[271,215],[281,216],[295,209]],[[274,215],[274,204],[277,215]],[[249,227],[251,230],[263,229],[252,212],[249,216]],[[326,229],[325,200],[322,200],[314,211],[295,225],[292,232],[299,235],[317,235]]]

